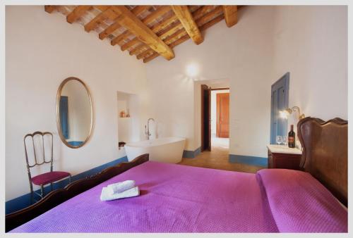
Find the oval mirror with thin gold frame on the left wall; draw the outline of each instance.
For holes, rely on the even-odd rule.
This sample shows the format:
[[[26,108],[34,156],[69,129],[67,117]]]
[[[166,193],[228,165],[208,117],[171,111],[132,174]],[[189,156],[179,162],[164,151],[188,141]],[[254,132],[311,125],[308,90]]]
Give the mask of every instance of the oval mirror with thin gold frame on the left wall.
[[[77,77],[61,82],[56,94],[56,124],[66,146],[80,148],[90,139],[92,100],[85,83]]]

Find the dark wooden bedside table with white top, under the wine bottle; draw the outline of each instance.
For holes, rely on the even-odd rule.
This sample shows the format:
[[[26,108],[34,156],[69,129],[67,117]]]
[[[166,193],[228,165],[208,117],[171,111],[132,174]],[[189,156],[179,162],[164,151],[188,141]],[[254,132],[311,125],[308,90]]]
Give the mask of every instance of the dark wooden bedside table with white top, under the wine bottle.
[[[301,150],[289,148],[285,145],[269,144],[268,148],[268,168],[287,168],[299,170],[301,160]]]

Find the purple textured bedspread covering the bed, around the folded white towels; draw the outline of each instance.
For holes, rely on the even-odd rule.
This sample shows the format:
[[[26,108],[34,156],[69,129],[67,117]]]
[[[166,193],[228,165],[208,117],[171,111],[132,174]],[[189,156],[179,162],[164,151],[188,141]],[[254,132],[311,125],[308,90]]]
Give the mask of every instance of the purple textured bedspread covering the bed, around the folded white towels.
[[[277,174],[276,170],[255,175],[148,161],[11,232],[347,232],[347,211],[322,186],[311,187],[318,193],[294,192],[287,203],[277,206],[276,196],[281,194],[276,195],[280,190],[275,187],[286,184],[271,177],[271,171]],[[296,180],[302,175],[307,182],[306,173],[290,176]],[[124,180],[136,180],[140,196],[100,201],[102,187]],[[272,185],[273,180],[277,184]],[[317,194],[322,198],[315,201]],[[309,203],[313,206],[309,213],[315,217],[304,214],[307,205],[293,200],[301,196],[315,201]],[[293,220],[311,225],[297,225]]]

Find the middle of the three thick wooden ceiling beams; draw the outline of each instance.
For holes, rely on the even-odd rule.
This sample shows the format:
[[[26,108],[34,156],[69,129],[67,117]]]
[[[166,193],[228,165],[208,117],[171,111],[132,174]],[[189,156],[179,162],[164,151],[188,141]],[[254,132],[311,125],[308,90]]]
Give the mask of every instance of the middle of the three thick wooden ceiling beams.
[[[195,20],[193,20],[193,16],[189,11],[188,6],[174,5],[172,6],[172,9],[193,42],[195,44],[201,44],[203,42],[203,36],[201,35],[200,30],[198,30],[198,26],[196,25]]]

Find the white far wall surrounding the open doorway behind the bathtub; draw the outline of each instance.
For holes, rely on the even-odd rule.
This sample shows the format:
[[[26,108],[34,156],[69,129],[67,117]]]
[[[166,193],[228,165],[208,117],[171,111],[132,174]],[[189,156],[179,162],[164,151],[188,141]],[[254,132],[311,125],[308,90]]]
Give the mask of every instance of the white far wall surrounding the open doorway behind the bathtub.
[[[146,65],[151,111],[157,123],[164,125],[164,134],[186,137],[188,150],[201,146],[197,85],[203,82],[199,80],[225,79],[231,88],[230,153],[266,155],[273,13],[270,6],[241,8],[236,26],[228,28],[224,21],[217,23],[205,32],[202,44],[196,46],[189,39],[174,49],[176,57],[172,61],[159,57]],[[185,73],[190,63],[199,69],[196,78]],[[195,92],[194,80],[200,82],[195,83]]]

